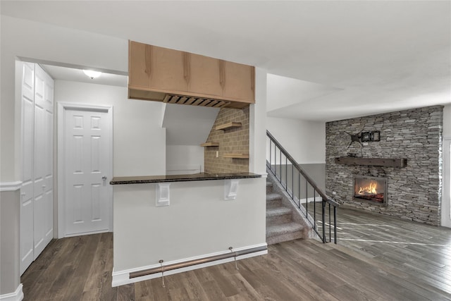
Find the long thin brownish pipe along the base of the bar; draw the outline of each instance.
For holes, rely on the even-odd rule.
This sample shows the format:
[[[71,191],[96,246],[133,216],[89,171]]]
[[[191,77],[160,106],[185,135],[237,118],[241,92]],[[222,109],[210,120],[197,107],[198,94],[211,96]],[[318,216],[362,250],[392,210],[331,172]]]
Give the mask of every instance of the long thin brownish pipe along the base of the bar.
[[[266,250],[268,250],[268,247],[266,247],[266,246],[252,247],[250,249],[240,250],[240,251],[232,250],[232,252],[226,253],[226,254],[220,254],[220,255],[214,255],[214,256],[209,256],[209,257],[204,257],[204,258],[199,258],[199,259],[193,259],[193,260],[189,260],[187,262],[178,262],[177,264],[168,264],[166,266],[157,266],[155,268],[145,269],[142,271],[135,271],[135,272],[130,273],[130,275],[128,277],[129,278],[137,278],[137,277],[142,277],[142,276],[147,276],[147,275],[152,275],[152,274],[157,274],[157,273],[163,273],[163,272],[172,271],[175,269],[182,269],[187,266],[195,266],[197,264],[205,264],[206,262],[216,262],[217,260],[228,259],[231,257],[236,258],[236,257],[242,256],[245,254],[256,253],[256,252],[261,252],[261,251],[266,251]]]

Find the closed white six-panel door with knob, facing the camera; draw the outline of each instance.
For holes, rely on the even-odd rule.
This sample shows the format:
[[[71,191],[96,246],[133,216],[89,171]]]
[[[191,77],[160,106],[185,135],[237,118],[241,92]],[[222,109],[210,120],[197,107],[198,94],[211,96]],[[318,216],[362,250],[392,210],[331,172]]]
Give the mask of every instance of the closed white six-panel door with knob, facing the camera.
[[[64,110],[63,236],[112,230],[110,114],[109,109]]]

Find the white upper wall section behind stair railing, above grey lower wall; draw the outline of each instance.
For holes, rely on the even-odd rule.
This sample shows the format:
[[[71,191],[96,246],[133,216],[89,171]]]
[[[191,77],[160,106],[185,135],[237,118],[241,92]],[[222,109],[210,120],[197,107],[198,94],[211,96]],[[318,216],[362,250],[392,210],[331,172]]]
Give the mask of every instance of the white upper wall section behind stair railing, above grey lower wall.
[[[326,123],[268,117],[266,128],[297,163],[326,163]]]

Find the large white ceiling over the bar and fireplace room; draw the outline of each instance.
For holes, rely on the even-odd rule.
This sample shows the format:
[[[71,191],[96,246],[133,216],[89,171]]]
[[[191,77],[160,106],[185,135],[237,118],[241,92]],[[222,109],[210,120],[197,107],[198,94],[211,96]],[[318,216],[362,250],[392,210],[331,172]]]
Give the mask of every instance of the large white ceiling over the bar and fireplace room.
[[[1,13],[264,68],[280,75],[268,116],[451,103],[451,1],[2,0]]]

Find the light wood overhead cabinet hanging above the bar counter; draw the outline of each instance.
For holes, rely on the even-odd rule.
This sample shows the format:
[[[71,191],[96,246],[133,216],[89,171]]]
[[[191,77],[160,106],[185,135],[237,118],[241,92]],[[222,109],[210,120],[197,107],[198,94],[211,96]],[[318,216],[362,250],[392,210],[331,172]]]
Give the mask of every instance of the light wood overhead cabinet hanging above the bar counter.
[[[235,108],[255,103],[253,66],[133,41],[128,62],[129,98],[163,102],[178,95],[184,104],[206,104],[185,102],[186,97],[198,97],[230,102],[227,106]]]

